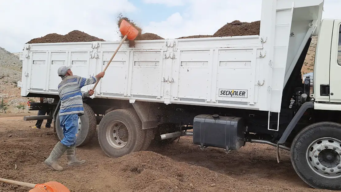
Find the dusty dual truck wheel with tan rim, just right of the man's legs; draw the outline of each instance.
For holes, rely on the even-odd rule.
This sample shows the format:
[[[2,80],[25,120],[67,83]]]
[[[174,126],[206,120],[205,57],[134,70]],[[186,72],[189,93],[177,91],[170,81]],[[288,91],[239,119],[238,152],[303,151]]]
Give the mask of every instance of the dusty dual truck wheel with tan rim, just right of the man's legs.
[[[113,158],[139,151],[145,131],[135,110],[117,109],[104,115],[98,130],[98,141],[104,153]]]

